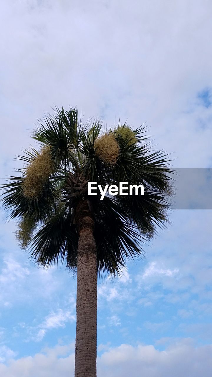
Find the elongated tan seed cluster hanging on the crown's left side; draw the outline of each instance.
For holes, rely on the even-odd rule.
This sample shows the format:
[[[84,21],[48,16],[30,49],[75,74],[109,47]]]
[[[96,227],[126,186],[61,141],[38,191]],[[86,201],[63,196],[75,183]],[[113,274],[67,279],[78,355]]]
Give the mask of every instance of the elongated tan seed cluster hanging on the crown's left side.
[[[54,163],[51,159],[50,148],[44,147],[26,169],[26,177],[23,180],[24,195],[31,199],[38,198],[43,190],[43,184],[53,172]]]

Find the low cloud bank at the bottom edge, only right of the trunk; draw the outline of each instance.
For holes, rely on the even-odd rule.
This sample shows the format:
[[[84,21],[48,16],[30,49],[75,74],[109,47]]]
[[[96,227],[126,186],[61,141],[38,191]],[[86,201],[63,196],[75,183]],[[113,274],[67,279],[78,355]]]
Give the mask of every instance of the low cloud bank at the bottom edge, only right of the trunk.
[[[157,351],[151,345],[132,347],[123,344],[111,348],[101,356],[98,371],[103,377],[169,377],[170,374],[173,377],[198,377],[201,374],[209,377],[212,366],[211,351],[211,346],[194,348],[183,342],[165,351]]]

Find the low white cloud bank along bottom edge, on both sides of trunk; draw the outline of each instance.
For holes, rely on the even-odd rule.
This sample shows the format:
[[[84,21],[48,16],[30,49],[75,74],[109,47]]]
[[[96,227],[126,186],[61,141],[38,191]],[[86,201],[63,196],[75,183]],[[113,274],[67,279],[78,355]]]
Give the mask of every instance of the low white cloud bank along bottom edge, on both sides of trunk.
[[[101,348],[101,350],[103,350]],[[108,349],[108,345],[106,345]],[[97,376],[108,377],[210,377],[212,345],[195,347],[188,340],[178,340],[164,351],[153,345],[122,344],[111,347],[97,358]],[[195,362],[194,362],[195,360]],[[68,377],[74,374],[74,344],[46,348],[33,357],[0,364],[5,377]]]

